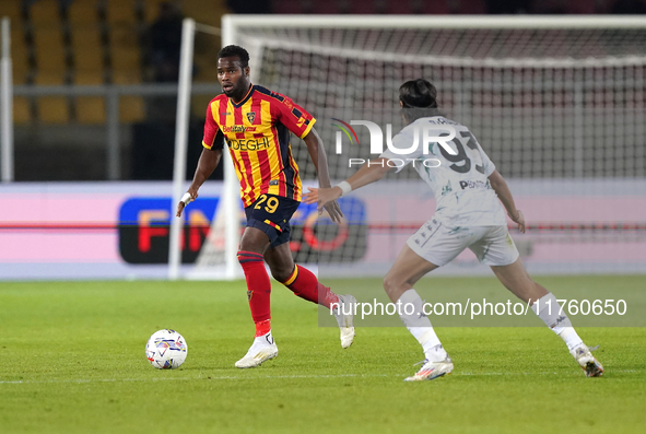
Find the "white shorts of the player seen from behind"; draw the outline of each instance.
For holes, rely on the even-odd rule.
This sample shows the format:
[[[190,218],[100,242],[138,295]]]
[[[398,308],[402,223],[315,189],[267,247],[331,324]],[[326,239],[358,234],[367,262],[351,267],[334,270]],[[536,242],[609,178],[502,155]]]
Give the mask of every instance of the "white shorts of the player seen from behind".
[[[407,245],[439,267],[454,260],[467,247],[486,266],[508,266],[519,256],[506,225],[446,227],[435,218],[408,238]]]

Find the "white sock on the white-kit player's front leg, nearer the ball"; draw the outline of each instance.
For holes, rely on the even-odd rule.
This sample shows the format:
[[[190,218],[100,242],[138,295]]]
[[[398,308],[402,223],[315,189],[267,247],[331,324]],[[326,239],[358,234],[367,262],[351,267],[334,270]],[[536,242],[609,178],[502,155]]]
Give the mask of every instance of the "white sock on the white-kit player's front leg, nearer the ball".
[[[408,290],[401,294],[397,303],[401,305],[399,315],[401,321],[418,342],[420,342],[426,359],[433,362],[445,360],[447,356],[446,351],[442,348],[442,342],[439,342],[439,338],[435,335],[431,320],[424,315],[424,302],[420,297],[420,294],[413,289]],[[407,304],[414,306],[412,314],[406,314],[404,306]],[[410,310],[411,308],[409,307],[408,312]]]

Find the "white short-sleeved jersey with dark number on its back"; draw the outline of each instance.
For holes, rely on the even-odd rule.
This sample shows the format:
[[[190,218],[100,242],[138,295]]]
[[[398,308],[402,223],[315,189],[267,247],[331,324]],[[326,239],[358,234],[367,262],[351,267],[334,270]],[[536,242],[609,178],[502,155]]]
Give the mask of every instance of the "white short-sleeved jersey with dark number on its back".
[[[448,134],[449,126],[456,137],[445,143],[457,155],[449,154],[437,142],[430,143],[427,150],[423,149],[424,129],[428,130],[426,137],[441,137]],[[415,134],[419,145],[402,154],[401,150],[412,148]],[[397,172],[408,164],[414,164],[435,196],[435,218],[444,225],[468,227],[507,224],[503,206],[488,179],[495,166],[467,127],[443,116],[420,118],[392,138],[392,146],[400,152],[387,149],[380,156],[394,160]]]

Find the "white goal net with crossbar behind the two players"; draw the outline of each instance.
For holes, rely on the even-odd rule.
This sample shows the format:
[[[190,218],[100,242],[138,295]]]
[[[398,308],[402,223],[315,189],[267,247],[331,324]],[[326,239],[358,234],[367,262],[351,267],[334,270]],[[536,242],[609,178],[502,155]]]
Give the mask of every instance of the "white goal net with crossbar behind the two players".
[[[318,119],[333,180],[359,168],[352,159],[376,156],[368,128],[352,120],[374,122],[385,136],[391,125],[397,133],[398,89],[424,78],[529,214],[528,234],[516,242],[530,270],[646,270],[642,19],[227,15],[227,44],[249,51],[254,83]],[[292,136],[292,149],[304,183],[316,186],[307,148]],[[407,167],[342,198],[341,226],[317,222],[314,208],[302,206],[296,260],[320,262],[334,275],[383,275],[433,213],[418,179]],[[235,180],[230,188],[237,190]],[[213,223],[219,234],[239,210],[222,218]],[[197,268],[222,260],[215,245],[205,244]],[[456,263],[445,272],[479,270],[473,258]]]

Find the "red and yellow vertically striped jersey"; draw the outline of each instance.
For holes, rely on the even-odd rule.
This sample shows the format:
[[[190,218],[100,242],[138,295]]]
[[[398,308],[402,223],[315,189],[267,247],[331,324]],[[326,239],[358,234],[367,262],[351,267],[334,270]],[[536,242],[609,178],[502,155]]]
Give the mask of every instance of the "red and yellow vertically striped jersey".
[[[299,201],[303,186],[290,131],[303,139],[314,122],[316,119],[289,97],[251,85],[239,104],[224,94],[211,99],[202,145],[211,149],[218,131],[224,134],[245,207],[262,193]]]

